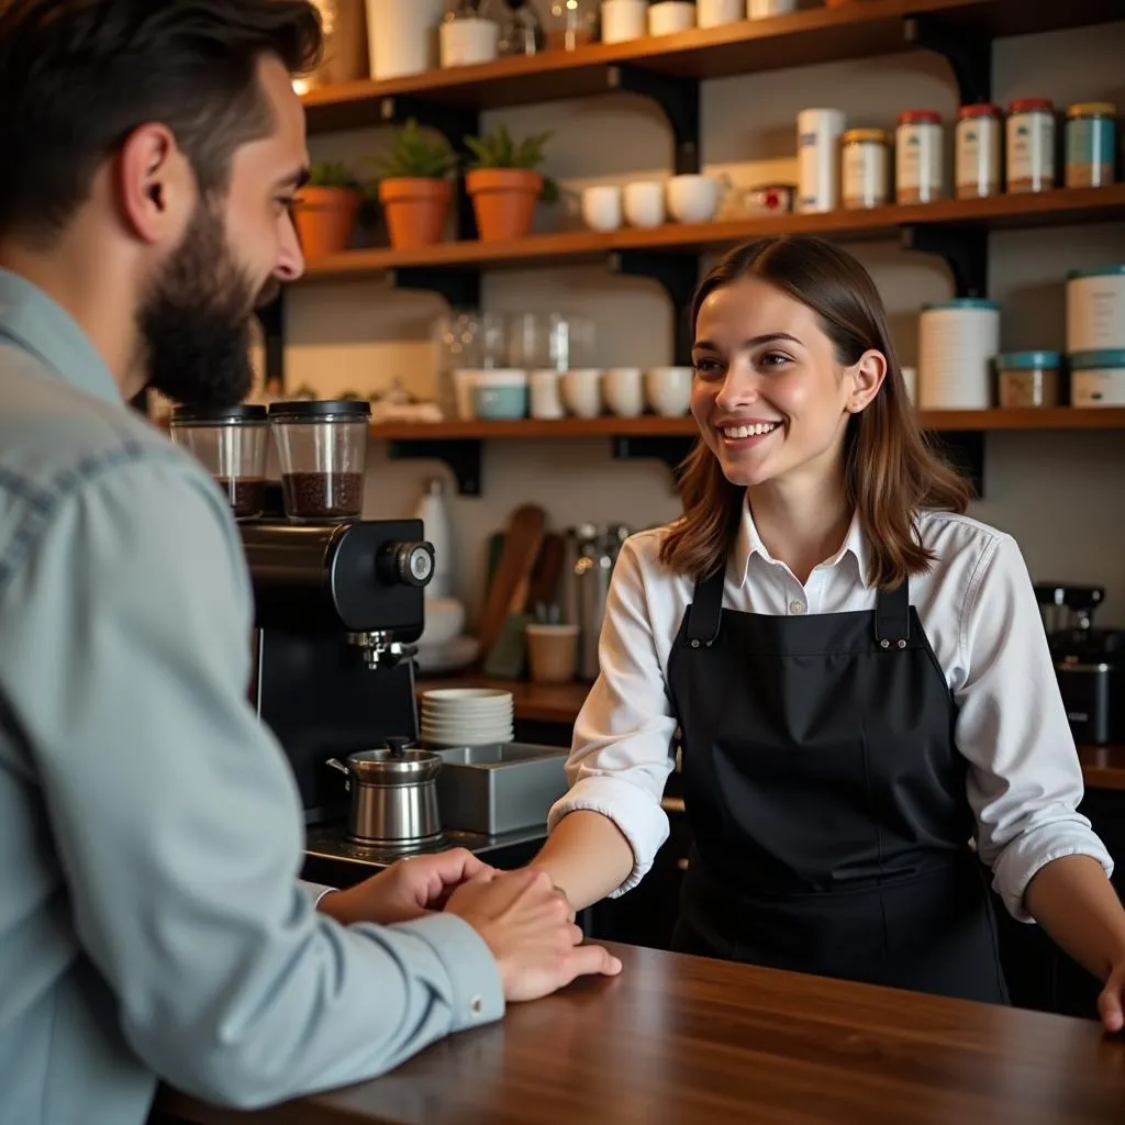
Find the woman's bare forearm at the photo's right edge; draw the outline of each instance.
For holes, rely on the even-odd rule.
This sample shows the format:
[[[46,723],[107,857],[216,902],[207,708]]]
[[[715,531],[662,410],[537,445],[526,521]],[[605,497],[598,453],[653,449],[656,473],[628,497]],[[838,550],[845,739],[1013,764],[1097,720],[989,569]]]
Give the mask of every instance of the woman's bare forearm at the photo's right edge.
[[[1027,884],[1024,904],[1098,980],[1105,982],[1125,956],[1125,909],[1097,860],[1066,855],[1041,867]]]

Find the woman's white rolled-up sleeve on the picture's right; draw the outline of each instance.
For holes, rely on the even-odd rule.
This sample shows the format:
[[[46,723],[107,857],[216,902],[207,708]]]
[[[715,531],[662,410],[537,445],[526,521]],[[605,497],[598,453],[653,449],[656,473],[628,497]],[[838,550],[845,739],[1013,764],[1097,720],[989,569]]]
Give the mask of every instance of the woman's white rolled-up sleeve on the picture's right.
[[[969,759],[976,846],[1012,917],[1030,921],[1024,892],[1037,871],[1087,855],[1113,871],[1078,812],[1082,770],[1027,567],[998,536],[973,575],[961,626],[964,682],[956,741]]]

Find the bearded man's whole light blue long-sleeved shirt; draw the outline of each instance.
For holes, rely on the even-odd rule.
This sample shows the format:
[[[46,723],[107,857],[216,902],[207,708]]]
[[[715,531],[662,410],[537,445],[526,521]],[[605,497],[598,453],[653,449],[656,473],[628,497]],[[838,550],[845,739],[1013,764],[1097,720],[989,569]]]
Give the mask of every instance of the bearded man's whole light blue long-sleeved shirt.
[[[3,1125],[143,1125],[158,1078],[261,1106],[503,1014],[460,919],[313,909],[251,620],[210,478],[0,271]]]

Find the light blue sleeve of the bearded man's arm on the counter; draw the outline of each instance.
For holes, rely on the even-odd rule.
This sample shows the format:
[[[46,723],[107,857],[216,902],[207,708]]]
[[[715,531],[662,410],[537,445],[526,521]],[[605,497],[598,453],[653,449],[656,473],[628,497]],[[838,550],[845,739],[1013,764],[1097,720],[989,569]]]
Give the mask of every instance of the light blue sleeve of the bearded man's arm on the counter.
[[[171,458],[60,500],[3,593],[0,690],[125,1038],[174,1086],[248,1107],[375,1077],[504,1001],[460,919],[344,928],[298,884],[300,804],[246,702],[228,520]]]

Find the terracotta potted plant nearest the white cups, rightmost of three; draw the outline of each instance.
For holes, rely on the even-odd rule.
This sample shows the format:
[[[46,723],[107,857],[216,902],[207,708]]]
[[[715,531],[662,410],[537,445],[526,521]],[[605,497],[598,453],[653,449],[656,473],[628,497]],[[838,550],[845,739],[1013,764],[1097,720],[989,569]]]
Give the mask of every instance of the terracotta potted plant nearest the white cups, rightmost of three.
[[[472,153],[465,187],[472,197],[482,241],[522,238],[531,230],[536,204],[558,198],[558,184],[537,171],[550,136],[540,133],[516,144],[502,125],[485,137],[465,138]]]

